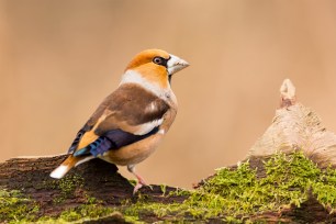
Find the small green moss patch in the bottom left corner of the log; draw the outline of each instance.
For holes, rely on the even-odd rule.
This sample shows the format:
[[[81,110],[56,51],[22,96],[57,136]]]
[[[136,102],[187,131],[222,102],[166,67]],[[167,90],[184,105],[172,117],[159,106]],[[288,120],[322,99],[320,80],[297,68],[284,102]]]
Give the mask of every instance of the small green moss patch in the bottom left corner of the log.
[[[32,221],[38,212],[37,204],[20,191],[0,190],[0,222]]]

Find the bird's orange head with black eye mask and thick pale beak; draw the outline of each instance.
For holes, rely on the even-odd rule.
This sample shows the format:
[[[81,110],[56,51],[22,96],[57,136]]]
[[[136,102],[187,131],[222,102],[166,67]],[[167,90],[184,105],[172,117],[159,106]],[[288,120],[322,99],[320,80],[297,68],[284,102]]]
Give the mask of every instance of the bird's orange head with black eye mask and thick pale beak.
[[[146,81],[167,88],[171,76],[188,66],[186,60],[165,51],[146,49],[131,60],[125,71],[136,72]]]

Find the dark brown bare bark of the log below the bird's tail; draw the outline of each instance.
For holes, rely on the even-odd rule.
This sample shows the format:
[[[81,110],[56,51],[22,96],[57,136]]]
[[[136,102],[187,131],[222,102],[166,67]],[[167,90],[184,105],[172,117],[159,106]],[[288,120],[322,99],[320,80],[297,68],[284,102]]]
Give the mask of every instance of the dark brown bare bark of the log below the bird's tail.
[[[101,159],[93,159],[74,168],[60,180],[51,178],[51,171],[66,157],[61,155],[13,158],[0,164],[0,189],[5,189],[7,192],[19,190],[22,193],[20,197],[34,201],[38,205],[38,212],[35,214],[38,217],[59,216],[61,212],[82,204],[98,203],[116,208],[125,200],[137,200],[138,197],[133,195],[133,184],[117,172],[117,167]],[[169,193],[176,188],[166,186],[150,186],[150,188],[142,188],[141,193],[150,197],[153,202],[181,202],[186,199],[186,197],[163,197],[164,190],[165,193]],[[119,214],[116,217],[120,220]]]

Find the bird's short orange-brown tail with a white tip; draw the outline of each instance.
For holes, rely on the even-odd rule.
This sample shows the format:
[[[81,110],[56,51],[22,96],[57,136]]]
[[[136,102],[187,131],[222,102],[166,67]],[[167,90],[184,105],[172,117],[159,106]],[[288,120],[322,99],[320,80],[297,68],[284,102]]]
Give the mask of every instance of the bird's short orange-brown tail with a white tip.
[[[64,163],[61,163],[61,165],[59,167],[57,167],[56,169],[54,169],[54,171],[52,171],[51,177],[52,178],[56,178],[56,179],[60,179],[63,178],[72,167],[88,161],[90,159],[92,159],[93,156],[89,156],[89,157],[75,157],[72,155],[70,155]]]

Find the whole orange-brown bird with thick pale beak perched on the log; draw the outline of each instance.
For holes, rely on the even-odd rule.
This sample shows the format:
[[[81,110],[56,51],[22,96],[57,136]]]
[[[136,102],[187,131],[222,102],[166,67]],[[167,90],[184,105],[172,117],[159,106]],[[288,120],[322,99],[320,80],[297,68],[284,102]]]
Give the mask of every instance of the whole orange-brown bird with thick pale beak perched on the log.
[[[68,157],[51,172],[63,178],[72,167],[93,158],[126,166],[135,176],[136,193],[145,180],[135,166],[155,152],[178,110],[171,77],[189,63],[163,49],[138,53],[126,66],[119,87],[79,130]]]

